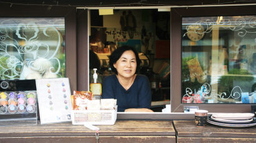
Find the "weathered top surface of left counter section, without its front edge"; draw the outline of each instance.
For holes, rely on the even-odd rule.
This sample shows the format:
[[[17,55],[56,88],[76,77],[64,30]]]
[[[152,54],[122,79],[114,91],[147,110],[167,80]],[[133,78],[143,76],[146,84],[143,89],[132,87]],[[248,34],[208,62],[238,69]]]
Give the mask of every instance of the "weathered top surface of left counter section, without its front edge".
[[[116,121],[113,126],[97,126],[101,136],[175,136],[172,121]],[[0,137],[94,136],[95,132],[71,122],[27,126],[2,126]]]

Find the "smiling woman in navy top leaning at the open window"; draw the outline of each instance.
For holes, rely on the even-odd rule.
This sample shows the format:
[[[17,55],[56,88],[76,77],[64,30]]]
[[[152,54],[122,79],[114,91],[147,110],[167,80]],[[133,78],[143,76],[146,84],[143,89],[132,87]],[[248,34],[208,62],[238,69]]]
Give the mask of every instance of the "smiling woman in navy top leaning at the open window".
[[[153,112],[147,76],[136,74],[140,59],[136,50],[122,46],[114,50],[109,66],[115,75],[107,76],[102,84],[102,98],[117,99],[119,112]]]

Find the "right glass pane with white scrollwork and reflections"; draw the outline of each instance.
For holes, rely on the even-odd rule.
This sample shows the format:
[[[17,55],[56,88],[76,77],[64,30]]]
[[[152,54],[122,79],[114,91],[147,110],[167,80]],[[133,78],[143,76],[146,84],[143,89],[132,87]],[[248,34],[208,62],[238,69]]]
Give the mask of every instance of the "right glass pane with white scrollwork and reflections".
[[[256,16],[182,18],[182,103],[256,103]]]

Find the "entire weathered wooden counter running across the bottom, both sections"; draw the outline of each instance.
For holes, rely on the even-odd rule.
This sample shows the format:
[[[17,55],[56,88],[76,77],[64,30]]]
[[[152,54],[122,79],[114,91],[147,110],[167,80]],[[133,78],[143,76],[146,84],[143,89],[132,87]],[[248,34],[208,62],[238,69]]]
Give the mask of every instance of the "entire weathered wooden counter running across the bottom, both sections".
[[[100,128],[99,142],[256,142],[256,126],[224,128],[194,120],[118,120]],[[71,122],[1,126],[0,142],[96,142],[95,131]]]

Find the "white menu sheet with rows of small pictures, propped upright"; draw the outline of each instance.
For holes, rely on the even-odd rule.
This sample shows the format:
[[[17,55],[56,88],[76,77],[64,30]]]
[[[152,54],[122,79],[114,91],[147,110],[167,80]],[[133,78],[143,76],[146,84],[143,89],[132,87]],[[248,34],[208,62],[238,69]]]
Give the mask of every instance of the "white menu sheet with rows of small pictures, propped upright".
[[[71,121],[69,78],[36,80],[41,124]]]

